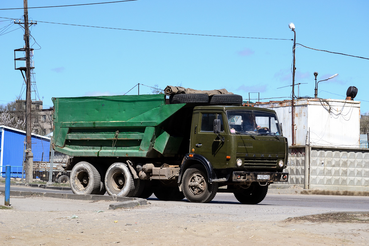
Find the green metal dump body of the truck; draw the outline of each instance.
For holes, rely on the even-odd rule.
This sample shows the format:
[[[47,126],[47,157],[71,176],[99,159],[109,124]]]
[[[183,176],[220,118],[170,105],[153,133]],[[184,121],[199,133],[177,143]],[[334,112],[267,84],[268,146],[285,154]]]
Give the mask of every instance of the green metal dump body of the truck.
[[[53,147],[69,156],[170,157],[183,139],[171,132],[169,119],[186,104],[165,104],[163,94],[52,101]]]

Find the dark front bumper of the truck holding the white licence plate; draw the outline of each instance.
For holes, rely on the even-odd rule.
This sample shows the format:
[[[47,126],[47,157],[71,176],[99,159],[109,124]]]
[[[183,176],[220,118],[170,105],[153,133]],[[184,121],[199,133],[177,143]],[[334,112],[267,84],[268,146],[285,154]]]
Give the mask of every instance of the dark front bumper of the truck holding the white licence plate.
[[[266,177],[268,177],[267,179]],[[258,179],[262,177],[262,179]],[[245,171],[235,171],[232,175],[232,181],[249,181],[249,182],[287,182],[288,173],[268,173],[268,172],[245,172]]]

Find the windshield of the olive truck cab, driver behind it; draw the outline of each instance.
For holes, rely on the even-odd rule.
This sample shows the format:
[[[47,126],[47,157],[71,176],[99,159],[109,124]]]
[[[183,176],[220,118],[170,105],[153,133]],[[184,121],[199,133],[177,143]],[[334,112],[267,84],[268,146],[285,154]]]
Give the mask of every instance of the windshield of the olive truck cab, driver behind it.
[[[280,136],[277,115],[256,110],[227,110],[231,134],[261,134]]]

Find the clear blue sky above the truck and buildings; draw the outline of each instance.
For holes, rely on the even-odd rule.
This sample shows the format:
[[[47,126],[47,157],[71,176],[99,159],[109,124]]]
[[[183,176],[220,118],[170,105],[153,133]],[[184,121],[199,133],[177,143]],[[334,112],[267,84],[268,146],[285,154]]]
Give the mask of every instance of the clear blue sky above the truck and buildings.
[[[28,0],[28,7],[97,2],[103,1]],[[21,7],[21,0],[0,4],[0,8]],[[297,43],[369,58],[368,7],[369,1],[364,0],[139,0],[34,8],[29,9],[29,17],[98,27],[279,39],[293,39],[288,27],[293,22]],[[23,10],[0,10],[0,17],[22,16]],[[10,20],[0,21],[0,28],[11,24]],[[7,31],[15,28],[17,24]],[[23,77],[14,70],[14,49],[23,47],[23,34],[18,29],[0,36],[0,103],[13,101],[21,93]],[[33,60],[38,95],[41,100],[44,97],[45,108],[52,106],[51,97],[118,95],[137,83],[158,84],[161,89],[179,84],[197,90],[225,88],[245,99],[249,92],[259,92],[260,98],[286,97],[270,100],[291,96],[292,87],[277,89],[292,84],[291,40],[163,34],[42,22],[32,26],[31,35],[41,46]],[[34,44],[33,48],[39,46]],[[355,100],[361,101],[363,113],[369,111],[368,65],[367,59],[297,46],[295,83],[307,83],[300,85],[300,96],[314,97],[314,71],[319,73],[318,80],[338,73],[334,79],[319,83],[318,97],[345,99],[347,88],[356,86]],[[295,89],[297,95],[298,87]],[[140,86],[140,94],[149,93],[150,88]],[[128,94],[137,94],[137,87]],[[255,96],[251,94],[251,98]]]

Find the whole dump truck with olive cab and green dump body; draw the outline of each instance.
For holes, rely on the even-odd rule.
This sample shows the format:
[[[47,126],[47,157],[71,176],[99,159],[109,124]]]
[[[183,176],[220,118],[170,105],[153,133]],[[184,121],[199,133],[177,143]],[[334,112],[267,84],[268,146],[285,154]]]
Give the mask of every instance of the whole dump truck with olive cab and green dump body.
[[[269,184],[287,182],[275,111],[199,98],[52,98],[52,146],[71,157],[73,193],[209,202],[227,192],[257,204]]]

